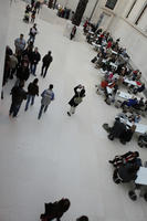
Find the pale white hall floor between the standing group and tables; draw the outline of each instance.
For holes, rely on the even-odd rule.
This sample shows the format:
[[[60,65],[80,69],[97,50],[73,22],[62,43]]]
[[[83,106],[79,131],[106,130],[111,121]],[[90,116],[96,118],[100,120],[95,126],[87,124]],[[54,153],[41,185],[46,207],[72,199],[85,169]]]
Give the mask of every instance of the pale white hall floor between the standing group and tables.
[[[12,6],[12,49],[21,32],[28,39],[30,25],[22,22],[23,11],[24,3]],[[118,109],[95,94],[98,72],[90,62],[95,52],[83,36],[81,42],[63,36],[66,21],[52,10],[43,9],[40,18],[35,45],[42,55],[51,50],[54,59],[45,80],[40,77],[41,63],[38,66],[40,93],[53,83],[55,101],[40,122],[40,97],[27,113],[23,104],[19,117],[10,119],[13,81],[4,88],[0,104],[0,221],[36,221],[44,212],[44,202],[62,197],[71,200],[63,221],[82,214],[91,221],[146,221],[147,203],[144,199],[129,200],[127,188],[113,182],[107,161],[128,150],[139,150],[146,160],[147,149],[140,149],[135,140],[123,146],[107,139],[102,125],[112,122]],[[86,97],[70,118],[67,102],[80,83],[86,87]]]

